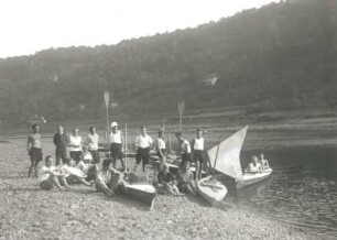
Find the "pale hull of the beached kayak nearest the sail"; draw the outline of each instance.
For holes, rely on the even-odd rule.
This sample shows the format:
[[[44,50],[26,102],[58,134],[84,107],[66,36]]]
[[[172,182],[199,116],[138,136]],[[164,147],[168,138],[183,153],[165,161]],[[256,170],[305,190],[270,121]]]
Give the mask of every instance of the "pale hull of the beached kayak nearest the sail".
[[[225,198],[227,195],[227,188],[224,184],[220,182],[217,183],[220,188],[209,187],[209,186],[203,186],[202,183],[203,179],[200,179],[197,183],[198,187],[198,194],[210,205],[214,206],[217,201],[220,201]]]

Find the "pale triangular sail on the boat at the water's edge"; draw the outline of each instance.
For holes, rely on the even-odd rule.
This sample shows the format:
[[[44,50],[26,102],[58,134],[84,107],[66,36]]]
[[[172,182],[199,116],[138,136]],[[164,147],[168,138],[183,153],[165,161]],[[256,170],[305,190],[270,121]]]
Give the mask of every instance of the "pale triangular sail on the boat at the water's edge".
[[[208,150],[211,167],[236,179],[242,179],[240,152],[247,130],[248,126]]]

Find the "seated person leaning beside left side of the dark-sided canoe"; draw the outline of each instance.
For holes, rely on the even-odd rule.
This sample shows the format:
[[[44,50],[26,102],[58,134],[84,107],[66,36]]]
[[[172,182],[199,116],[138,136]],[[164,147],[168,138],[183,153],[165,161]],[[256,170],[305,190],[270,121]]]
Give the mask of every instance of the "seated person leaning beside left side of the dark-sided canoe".
[[[102,162],[102,170],[99,171],[95,165],[96,179],[95,187],[97,192],[102,192],[105,195],[112,197],[115,190],[121,183],[123,174],[111,166],[111,160],[106,159]]]

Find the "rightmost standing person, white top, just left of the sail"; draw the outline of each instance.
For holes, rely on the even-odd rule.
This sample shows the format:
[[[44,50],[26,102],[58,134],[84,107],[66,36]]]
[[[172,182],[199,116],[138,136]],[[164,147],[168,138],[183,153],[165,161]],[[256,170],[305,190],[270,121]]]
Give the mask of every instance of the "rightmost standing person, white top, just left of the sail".
[[[193,156],[196,164],[196,179],[202,178],[202,170],[204,165],[204,145],[205,145],[205,139],[203,138],[203,130],[197,129],[196,130],[196,138],[192,140],[192,149],[193,149]]]

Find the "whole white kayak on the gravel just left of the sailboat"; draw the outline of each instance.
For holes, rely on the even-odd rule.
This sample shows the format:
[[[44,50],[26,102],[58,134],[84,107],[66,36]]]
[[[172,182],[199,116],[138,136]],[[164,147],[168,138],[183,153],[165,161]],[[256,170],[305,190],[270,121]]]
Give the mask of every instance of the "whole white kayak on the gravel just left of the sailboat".
[[[211,176],[204,177],[197,183],[198,194],[210,205],[222,200],[227,195],[227,188]]]

